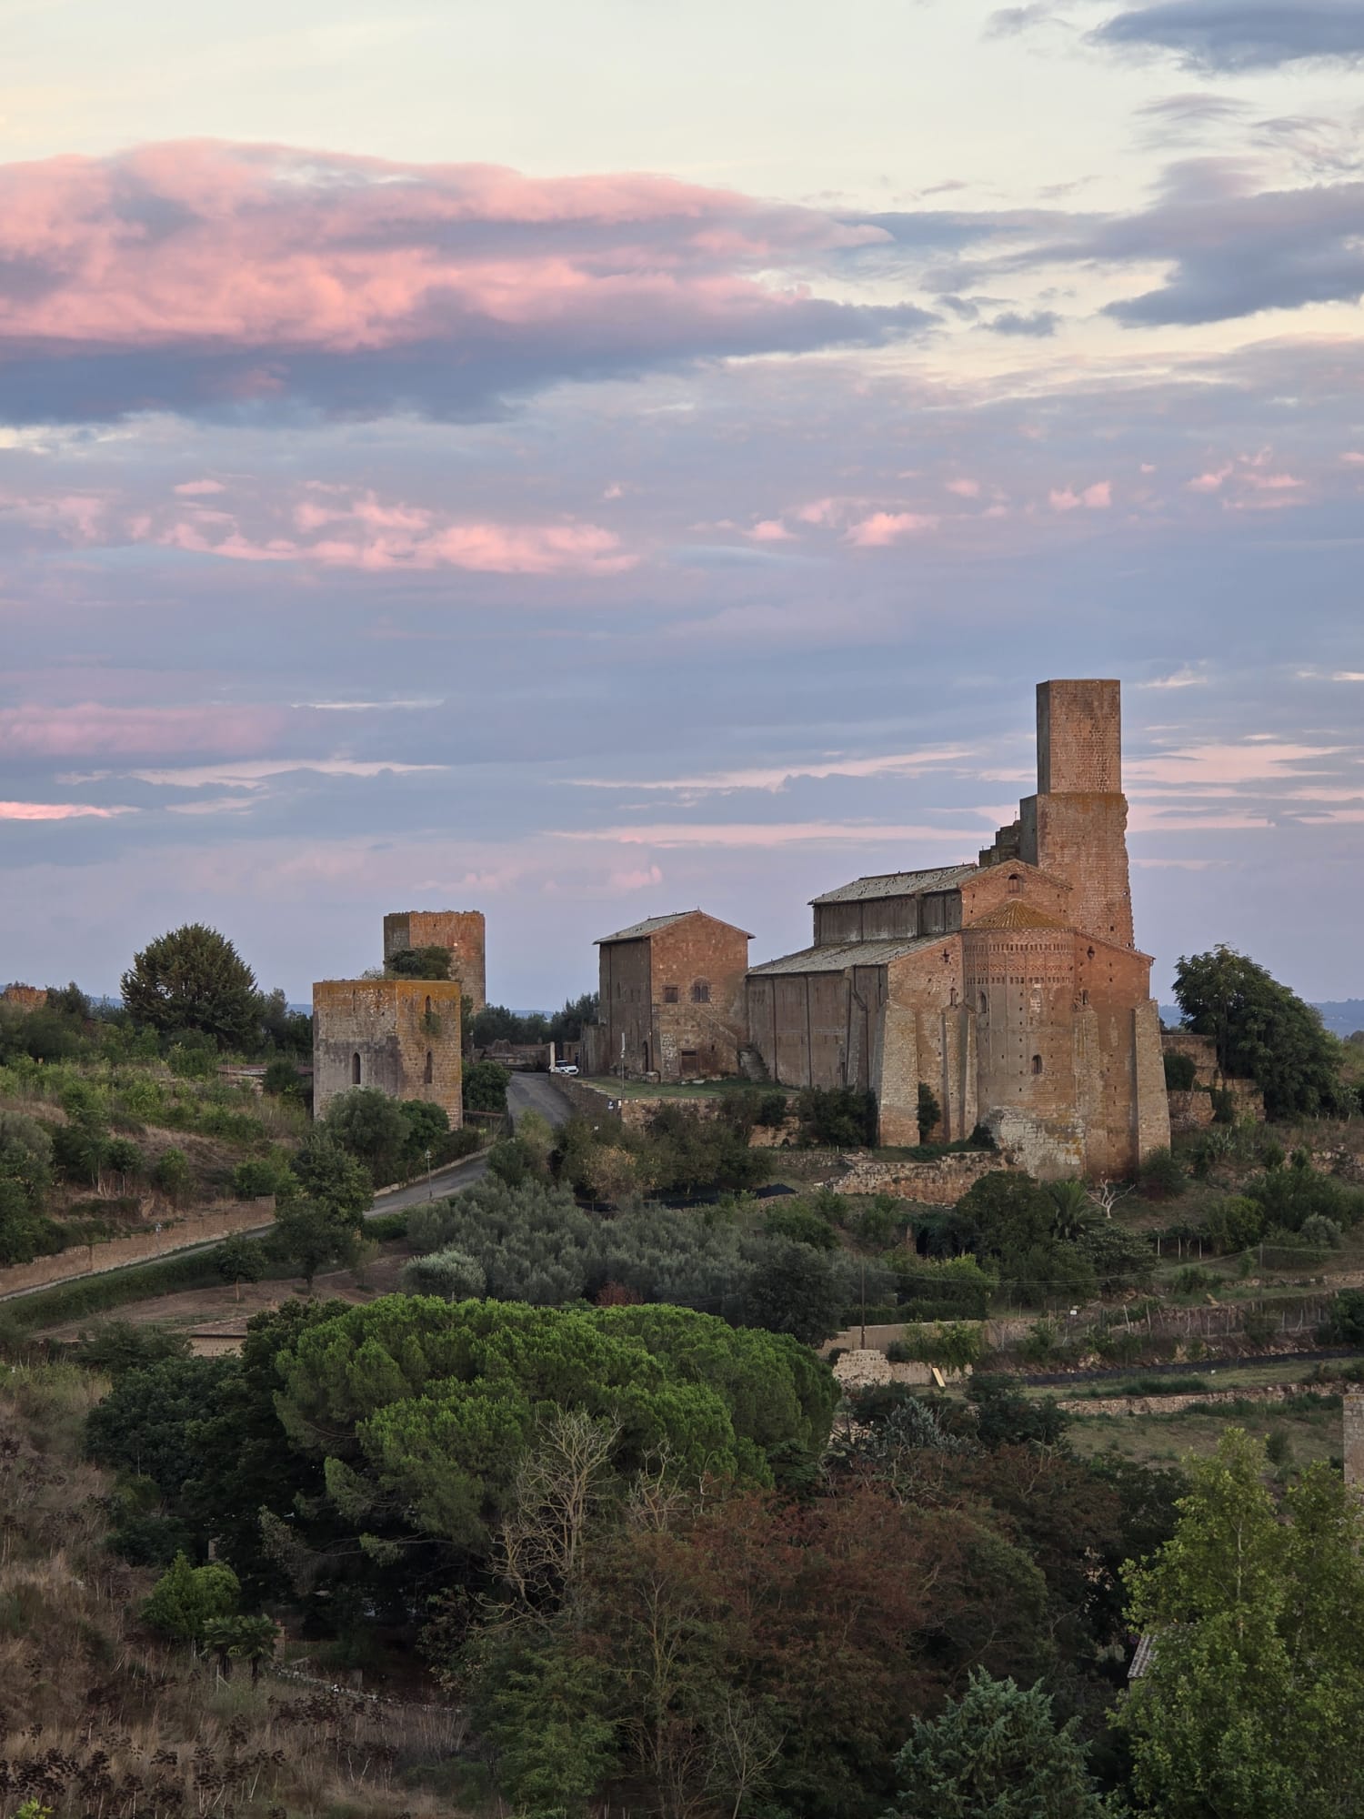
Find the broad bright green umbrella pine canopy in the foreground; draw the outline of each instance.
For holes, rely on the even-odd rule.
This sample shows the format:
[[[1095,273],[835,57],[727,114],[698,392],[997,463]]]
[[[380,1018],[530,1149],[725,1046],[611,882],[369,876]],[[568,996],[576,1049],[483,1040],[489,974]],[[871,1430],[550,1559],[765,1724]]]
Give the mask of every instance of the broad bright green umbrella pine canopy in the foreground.
[[[487,1546],[544,1404],[607,1419],[618,1470],[662,1446],[684,1475],[762,1482],[778,1439],[824,1444],[833,1402],[827,1368],[793,1341],[680,1308],[389,1295],[309,1328],[278,1368],[286,1433],[324,1457],[347,1521],[400,1512],[466,1548]]]

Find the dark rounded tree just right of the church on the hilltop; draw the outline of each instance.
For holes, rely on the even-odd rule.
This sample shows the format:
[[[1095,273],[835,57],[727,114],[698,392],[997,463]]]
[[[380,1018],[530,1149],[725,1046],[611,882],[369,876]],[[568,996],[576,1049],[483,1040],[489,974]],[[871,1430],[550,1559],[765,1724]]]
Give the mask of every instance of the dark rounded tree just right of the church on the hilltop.
[[[1175,997],[1189,1030],[1215,1040],[1222,1073],[1255,1080],[1268,1117],[1335,1115],[1357,1102],[1320,1011],[1235,948],[1180,955]]]

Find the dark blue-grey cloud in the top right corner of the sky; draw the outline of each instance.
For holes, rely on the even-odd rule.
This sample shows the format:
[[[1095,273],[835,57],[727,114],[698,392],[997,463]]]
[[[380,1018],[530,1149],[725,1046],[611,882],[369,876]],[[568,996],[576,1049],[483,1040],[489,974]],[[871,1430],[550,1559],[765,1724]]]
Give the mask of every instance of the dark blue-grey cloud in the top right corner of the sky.
[[[1089,33],[1118,51],[1169,51],[1191,69],[1229,75],[1308,58],[1364,56],[1359,0],[1168,0],[1133,7]]]

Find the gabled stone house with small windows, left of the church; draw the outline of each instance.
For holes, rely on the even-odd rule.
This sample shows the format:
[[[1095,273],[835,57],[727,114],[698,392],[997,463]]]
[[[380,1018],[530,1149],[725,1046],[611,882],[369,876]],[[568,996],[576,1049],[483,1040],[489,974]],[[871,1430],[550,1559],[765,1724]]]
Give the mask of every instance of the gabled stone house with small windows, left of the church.
[[[647,917],[604,935],[597,942],[600,1020],[582,1031],[586,1071],[662,1080],[737,1073],[751,939],[704,910]]]

